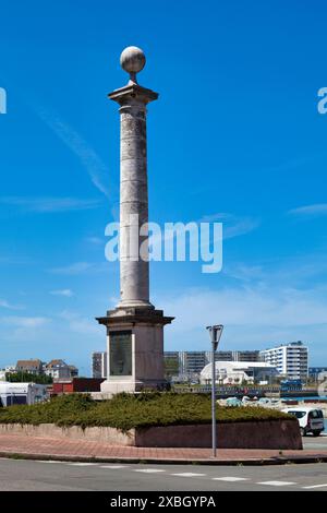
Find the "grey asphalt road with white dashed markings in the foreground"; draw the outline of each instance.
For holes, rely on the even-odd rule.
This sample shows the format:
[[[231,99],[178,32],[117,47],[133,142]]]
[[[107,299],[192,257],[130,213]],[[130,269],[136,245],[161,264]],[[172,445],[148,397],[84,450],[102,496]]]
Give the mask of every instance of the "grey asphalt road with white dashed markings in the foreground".
[[[0,491],[327,491],[327,464],[259,467],[0,460]]]

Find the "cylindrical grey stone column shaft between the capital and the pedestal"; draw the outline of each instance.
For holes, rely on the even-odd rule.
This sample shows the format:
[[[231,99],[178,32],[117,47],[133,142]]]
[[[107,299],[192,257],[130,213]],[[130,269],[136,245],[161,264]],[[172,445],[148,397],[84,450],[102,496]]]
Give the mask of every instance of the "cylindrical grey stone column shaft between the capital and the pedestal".
[[[148,306],[147,237],[140,236],[148,223],[146,106],[128,102],[120,120],[120,305]]]

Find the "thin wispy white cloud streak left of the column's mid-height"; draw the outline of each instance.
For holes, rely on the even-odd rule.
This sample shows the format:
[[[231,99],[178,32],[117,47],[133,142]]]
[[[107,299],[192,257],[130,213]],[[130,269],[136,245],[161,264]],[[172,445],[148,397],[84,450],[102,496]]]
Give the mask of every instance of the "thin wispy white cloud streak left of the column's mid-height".
[[[22,208],[23,212],[55,213],[97,208],[99,200],[81,200],[78,198],[0,198],[0,203]]]

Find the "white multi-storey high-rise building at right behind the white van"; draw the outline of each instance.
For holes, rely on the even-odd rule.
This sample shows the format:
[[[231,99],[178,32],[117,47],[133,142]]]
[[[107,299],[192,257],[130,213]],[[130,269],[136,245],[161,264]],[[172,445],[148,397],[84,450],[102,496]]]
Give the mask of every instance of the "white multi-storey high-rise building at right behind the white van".
[[[307,355],[307,347],[302,342],[281,344],[261,351],[263,361],[276,367],[279,374],[290,380],[306,380]]]

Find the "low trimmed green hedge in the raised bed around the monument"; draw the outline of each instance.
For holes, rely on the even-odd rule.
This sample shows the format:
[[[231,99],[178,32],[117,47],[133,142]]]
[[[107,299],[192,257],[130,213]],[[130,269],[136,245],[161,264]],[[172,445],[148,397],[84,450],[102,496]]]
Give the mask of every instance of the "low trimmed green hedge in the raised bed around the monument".
[[[217,407],[218,422],[268,421],[295,417],[263,407]],[[203,394],[142,393],[118,394],[110,401],[95,402],[89,395],[53,397],[33,406],[0,408],[0,423],[56,423],[82,428],[102,426],[128,431],[131,428],[209,423],[210,397]]]

